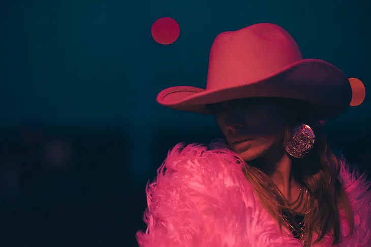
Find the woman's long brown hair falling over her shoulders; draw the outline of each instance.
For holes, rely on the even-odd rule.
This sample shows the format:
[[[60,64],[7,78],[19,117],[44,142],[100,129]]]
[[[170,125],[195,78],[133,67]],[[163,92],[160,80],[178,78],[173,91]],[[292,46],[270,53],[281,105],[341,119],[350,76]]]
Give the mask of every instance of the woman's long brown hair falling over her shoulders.
[[[292,105],[292,100],[289,103]],[[311,196],[310,208],[312,210],[308,213],[307,230],[304,236],[306,246],[311,246],[314,232],[318,234],[315,243],[321,241],[326,234],[330,234],[333,237],[333,244],[336,244],[341,242],[344,237],[340,229],[339,206],[342,207],[348,218],[350,227],[348,236],[352,235],[354,227],[349,198],[338,180],[339,160],[328,146],[322,124],[313,117],[309,110],[303,112],[302,104],[296,101],[294,103],[300,109],[301,114],[296,115],[295,121],[292,121],[286,131],[285,137],[289,137],[289,129],[297,123],[311,126],[316,135],[315,146],[311,154],[301,159],[293,159],[292,163],[292,172],[296,182],[306,187]],[[272,180],[260,169],[246,164],[244,174],[246,179],[254,185],[262,205],[279,222],[280,229],[282,229],[284,222],[280,215],[282,208],[285,207],[283,195],[277,192],[279,190]],[[276,190],[272,190],[272,188],[276,188]]]

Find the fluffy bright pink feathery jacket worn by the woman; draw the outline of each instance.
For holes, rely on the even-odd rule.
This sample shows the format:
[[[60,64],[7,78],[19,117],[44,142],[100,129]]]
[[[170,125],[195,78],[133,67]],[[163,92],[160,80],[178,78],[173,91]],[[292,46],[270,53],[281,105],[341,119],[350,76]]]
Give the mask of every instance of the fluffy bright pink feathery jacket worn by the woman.
[[[371,194],[364,175],[357,178],[345,162],[339,179],[354,212],[354,233],[341,211],[343,241],[338,247],[371,247]],[[256,200],[241,162],[225,144],[176,145],[146,189],[146,232],[140,247],[294,247],[300,241],[283,231]],[[314,236],[314,240],[316,235]],[[314,247],[332,245],[326,235]]]

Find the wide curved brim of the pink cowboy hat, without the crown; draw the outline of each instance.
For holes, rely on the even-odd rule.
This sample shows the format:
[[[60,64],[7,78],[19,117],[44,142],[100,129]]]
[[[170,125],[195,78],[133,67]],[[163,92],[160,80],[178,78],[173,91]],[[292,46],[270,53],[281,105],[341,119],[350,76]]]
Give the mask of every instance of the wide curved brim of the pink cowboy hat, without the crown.
[[[337,117],[352,99],[352,89],[344,73],[319,59],[302,59],[273,75],[242,85],[205,90],[192,86],[175,86],[162,90],[157,102],[180,111],[212,114],[206,104],[239,98],[279,97],[308,102],[319,119]]]

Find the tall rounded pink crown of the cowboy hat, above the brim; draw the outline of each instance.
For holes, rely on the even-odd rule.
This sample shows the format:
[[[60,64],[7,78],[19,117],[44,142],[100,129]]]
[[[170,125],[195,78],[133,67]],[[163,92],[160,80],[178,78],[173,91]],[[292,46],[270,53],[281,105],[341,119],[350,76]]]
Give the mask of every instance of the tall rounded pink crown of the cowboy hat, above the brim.
[[[302,59],[291,35],[271,23],[220,33],[209,56],[206,90],[249,84]]]

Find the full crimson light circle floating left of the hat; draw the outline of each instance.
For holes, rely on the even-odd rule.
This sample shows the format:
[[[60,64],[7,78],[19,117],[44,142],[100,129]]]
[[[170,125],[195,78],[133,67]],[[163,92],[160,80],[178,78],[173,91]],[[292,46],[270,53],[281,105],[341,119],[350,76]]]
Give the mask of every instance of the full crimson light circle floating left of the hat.
[[[174,19],[162,17],[153,23],[151,33],[157,43],[169,45],[178,39],[180,28]]]

